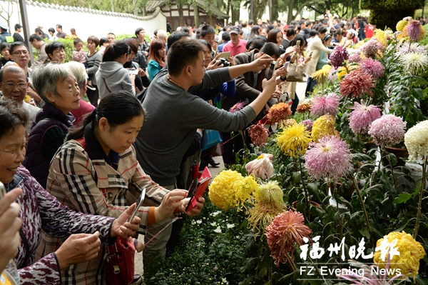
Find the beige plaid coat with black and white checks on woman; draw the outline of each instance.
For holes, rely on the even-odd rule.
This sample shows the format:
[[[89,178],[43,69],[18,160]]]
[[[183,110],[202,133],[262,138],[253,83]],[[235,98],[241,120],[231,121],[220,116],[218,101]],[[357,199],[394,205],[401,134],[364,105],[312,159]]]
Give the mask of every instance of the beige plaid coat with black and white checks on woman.
[[[131,146],[119,154],[117,170],[110,166],[98,151],[98,141],[93,135],[91,124],[86,126],[87,150],[78,141],[66,141],[51,161],[47,191],[56,196],[61,204],[70,209],[102,216],[120,216],[131,206],[146,188],[146,198],[138,210],[141,218],[139,234],[147,231],[150,206],[161,204],[168,190],[163,189],[147,176],[136,159]],[[55,251],[62,241],[43,233],[38,252]],[[70,266],[63,272],[62,284],[107,284],[105,249],[96,259],[84,264]]]

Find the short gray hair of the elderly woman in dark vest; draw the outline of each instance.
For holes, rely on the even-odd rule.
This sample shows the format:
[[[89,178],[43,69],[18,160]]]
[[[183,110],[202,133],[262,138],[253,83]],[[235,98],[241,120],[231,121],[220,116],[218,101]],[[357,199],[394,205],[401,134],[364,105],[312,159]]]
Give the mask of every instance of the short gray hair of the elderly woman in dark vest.
[[[56,91],[56,84],[58,84],[58,81],[60,80],[65,80],[70,74],[72,73],[65,64],[50,63],[37,66],[31,73],[31,79],[33,80],[33,86],[36,89],[37,94],[41,96],[41,99],[43,99],[47,104],[52,104],[52,102],[47,99],[46,94],[59,96]]]

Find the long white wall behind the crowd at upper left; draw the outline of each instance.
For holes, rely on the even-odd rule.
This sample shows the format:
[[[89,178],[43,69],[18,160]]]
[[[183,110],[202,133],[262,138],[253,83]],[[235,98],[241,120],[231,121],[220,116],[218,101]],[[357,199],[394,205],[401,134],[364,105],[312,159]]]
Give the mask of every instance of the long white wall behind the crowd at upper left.
[[[14,1],[14,13],[11,16],[10,32],[14,33],[15,24],[20,21],[19,6]],[[8,3],[0,1],[0,4],[7,9]],[[109,11],[98,11],[93,9],[83,9],[81,7],[58,6],[44,4],[37,1],[26,1],[27,15],[29,17],[30,34],[34,34],[37,26],[43,26],[43,31],[48,34],[49,28],[54,28],[56,24],[63,26],[63,31],[70,34],[70,29],[76,29],[76,34],[83,41],[88,36],[99,38],[107,36],[109,32],[114,34],[134,34],[138,27],[143,27],[146,34],[153,35],[155,29],[166,30],[166,17],[157,9],[150,16],[134,16],[131,14],[112,13]],[[5,12],[1,12],[5,15]],[[4,21],[4,19],[0,19]],[[21,33],[22,34],[22,33]]]

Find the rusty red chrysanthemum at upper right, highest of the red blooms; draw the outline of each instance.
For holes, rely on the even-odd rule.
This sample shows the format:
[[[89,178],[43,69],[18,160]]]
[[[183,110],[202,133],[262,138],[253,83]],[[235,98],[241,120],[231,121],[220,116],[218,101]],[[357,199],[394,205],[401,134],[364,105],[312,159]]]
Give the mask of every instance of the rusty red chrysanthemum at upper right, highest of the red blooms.
[[[340,82],[340,94],[355,98],[367,92],[367,94],[372,96],[373,87],[372,76],[361,69],[355,69]]]

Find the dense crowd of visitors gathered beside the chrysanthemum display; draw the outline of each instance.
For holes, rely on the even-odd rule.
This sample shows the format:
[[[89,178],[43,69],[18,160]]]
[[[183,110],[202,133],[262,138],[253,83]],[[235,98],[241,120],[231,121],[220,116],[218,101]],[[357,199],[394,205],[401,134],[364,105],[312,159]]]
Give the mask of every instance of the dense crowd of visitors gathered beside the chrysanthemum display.
[[[108,284],[105,245],[116,236],[151,241],[135,243],[144,266],[165,256],[180,234],[173,217],[203,208],[200,198],[185,211],[185,189],[195,164],[217,165],[213,147],[202,151],[208,131],[218,131],[223,161],[235,164],[251,147],[245,130],[283,94],[296,111],[287,64],[305,70],[309,96],[332,47],[374,30],[362,16],[344,21],[327,11],[315,22],[156,30],[150,43],[140,27],[123,40],[89,36],[84,49],[74,29],[67,36],[58,24],[49,36],[39,26],[29,38],[39,50],[30,68],[24,39],[0,28],[0,272],[14,259],[21,284]],[[56,39],[66,37],[75,50],[64,63]],[[142,193],[143,206],[126,221]]]

